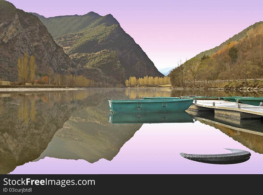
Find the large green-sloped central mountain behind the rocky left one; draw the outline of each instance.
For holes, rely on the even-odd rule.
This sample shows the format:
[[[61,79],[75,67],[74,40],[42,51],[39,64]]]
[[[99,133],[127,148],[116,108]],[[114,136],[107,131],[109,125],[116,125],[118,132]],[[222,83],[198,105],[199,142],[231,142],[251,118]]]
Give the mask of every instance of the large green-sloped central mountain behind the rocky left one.
[[[94,12],[85,15],[39,17],[55,42],[85,74],[103,76],[124,83],[130,76],[163,77],[134,39],[111,15],[101,16]]]

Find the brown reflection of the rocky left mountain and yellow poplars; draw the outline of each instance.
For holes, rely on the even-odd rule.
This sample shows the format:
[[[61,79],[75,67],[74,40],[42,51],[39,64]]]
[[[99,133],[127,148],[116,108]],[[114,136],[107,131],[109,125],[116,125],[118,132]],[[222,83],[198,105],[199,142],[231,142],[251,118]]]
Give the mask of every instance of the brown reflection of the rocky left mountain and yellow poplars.
[[[44,101],[46,96],[22,93],[1,99],[0,173],[39,157],[70,117],[74,105],[58,103],[52,96]],[[60,96],[68,99],[65,93]]]

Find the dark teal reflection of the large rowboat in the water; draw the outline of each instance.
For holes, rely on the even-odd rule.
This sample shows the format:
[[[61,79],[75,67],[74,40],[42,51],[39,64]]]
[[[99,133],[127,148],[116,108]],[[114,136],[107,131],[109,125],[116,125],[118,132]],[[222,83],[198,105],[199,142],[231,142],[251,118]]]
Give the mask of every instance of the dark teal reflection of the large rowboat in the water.
[[[111,124],[141,123],[193,123],[193,118],[184,112],[167,113],[110,113]]]

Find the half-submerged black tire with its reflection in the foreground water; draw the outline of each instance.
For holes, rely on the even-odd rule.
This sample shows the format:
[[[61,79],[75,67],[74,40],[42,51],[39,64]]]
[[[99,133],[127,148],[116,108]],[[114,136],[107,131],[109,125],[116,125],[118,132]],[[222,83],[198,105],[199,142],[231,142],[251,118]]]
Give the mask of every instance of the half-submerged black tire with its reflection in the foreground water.
[[[250,159],[250,152],[240,149],[228,149],[232,153],[227,154],[214,154],[214,155],[197,155],[197,154],[186,154],[181,152],[180,155],[189,160],[198,161],[201,163],[210,164],[236,164],[243,163]]]

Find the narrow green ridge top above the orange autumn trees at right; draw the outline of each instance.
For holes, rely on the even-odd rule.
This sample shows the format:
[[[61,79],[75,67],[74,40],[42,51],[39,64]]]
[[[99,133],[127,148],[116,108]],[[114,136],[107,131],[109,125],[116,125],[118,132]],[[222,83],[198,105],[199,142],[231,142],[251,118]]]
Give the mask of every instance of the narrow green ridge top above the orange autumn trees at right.
[[[227,46],[227,44],[231,43],[232,41],[233,42],[240,41],[241,39],[246,37],[247,34],[249,34],[251,31],[253,31],[253,29],[255,29],[257,26],[260,26],[262,24],[263,24],[263,21],[256,22],[255,24],[248,26],[246,29],[242,30],[238,34],[234,35],[233,37],[229,38],[225,42],[221,43],[219,46],[216,46],[216,47],[214,47],[212,49],[209,49],[209,50],[206,50],[204,52],[201,52],[201,53],[197,54],[195,57],[196,58],[201,58],[204,55],[211,56],[212,54],[216,53],[220,49],[223,49],[225,46]]]

